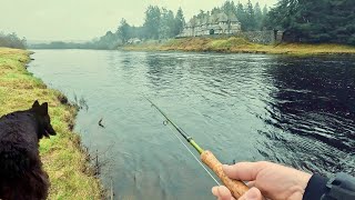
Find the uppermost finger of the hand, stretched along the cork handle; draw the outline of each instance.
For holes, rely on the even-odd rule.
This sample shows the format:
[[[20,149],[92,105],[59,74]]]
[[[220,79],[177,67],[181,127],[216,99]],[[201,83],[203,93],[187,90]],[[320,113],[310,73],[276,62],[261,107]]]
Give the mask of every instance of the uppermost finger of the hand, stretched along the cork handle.
[[[239,162],[234,166],[223,164],[223,171],[231,179],[253,181],[265,167],[265,162]]]

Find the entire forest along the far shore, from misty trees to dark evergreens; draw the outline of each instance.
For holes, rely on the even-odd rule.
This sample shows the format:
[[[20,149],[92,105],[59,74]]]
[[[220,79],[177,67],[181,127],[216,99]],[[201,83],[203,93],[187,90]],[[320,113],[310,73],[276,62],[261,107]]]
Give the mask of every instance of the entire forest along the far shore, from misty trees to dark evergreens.
[[[200,10],[192,19],[203,19],[215,12],[234,14],[242,31],[284,31],[284,42],[355,44],[354,0],[278,0],[273,7],[253,4],[251,0],[245,4],[225,1],[210,11]],[[32,48],[116,49],[132,38],[142,41],[174,38],[189,20],[181,8],[174,13],[150,6],[142,26],[121,19],[115,31],[87,43],[52,42]]]

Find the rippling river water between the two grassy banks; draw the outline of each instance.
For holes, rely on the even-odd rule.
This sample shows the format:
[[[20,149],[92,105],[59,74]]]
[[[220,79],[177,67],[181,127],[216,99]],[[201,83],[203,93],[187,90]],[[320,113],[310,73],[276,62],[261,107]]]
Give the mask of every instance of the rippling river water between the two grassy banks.
[[[355,174],[354,57],[34,52],[29,71],[82,106],[75,130],[119,199],[214,199],[144,96],[224,163]]]

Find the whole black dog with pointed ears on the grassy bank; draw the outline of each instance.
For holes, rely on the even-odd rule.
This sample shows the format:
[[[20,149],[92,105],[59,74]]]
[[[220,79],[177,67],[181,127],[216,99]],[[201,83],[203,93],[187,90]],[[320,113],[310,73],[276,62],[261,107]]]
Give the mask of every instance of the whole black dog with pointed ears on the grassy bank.
[[[48,103],[0,118],[0,199],[42,200],[49,179],[42,169],[39,140],[54,136]]]

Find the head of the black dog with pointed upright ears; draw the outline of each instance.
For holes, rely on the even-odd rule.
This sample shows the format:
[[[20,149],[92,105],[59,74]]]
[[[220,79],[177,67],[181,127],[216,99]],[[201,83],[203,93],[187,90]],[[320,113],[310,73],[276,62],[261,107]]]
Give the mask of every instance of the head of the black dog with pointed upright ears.
[[[55,136],[53,127],[51,126],[51,118],[48,114],[48,103],[44,102],[40,104],[38,101],[34,101],[31,110],[34,112],[37,122],[39,124],[38,139],[44,137],[49,138],[50,136]]]

